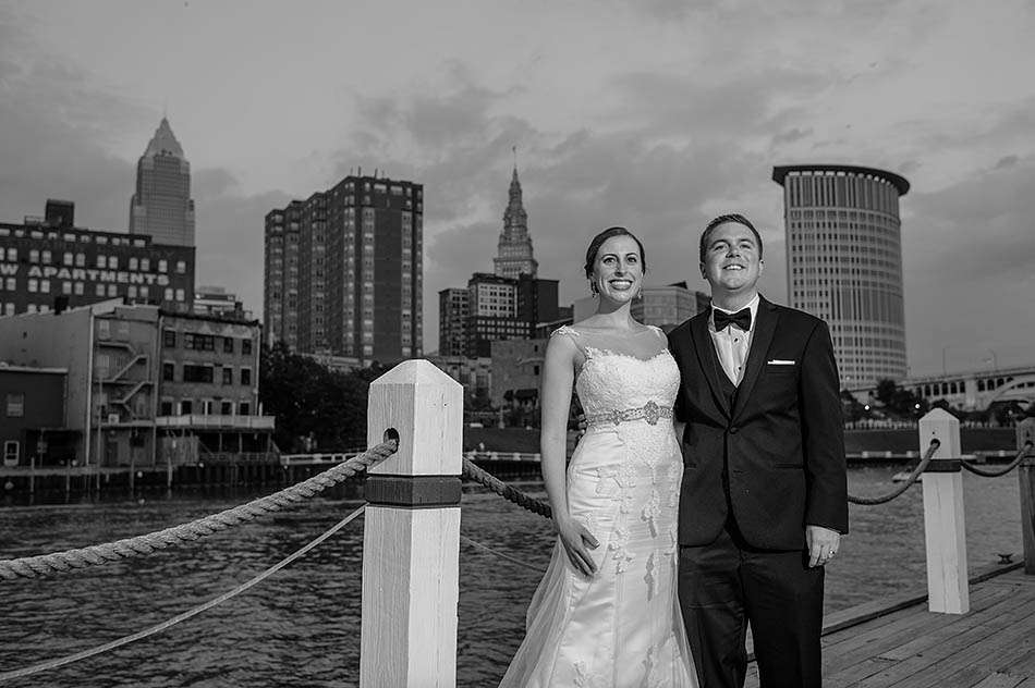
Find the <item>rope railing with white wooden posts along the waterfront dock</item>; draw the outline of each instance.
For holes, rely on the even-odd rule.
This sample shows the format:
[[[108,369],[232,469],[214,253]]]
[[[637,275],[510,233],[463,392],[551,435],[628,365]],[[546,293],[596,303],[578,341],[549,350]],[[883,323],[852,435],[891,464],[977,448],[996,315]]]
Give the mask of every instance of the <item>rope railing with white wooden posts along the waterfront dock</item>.
[[[494,478],[463,456],[462,421],[460,384],[425,360],[405,361],[370,384],[367,442],[373,449],[357,457],[269,497],[158,533],[72,552],[0,561],[0,578],[15,578],[146,555],[299,503],[328,484],[367,469],[367,504],[264,574],[199,607],[132,636],[35,667],[0,674],[0,683],[139,640],[210,609],[287,566],[365,509],[360,686],[454,686],[461,477],[477,480],[529,511],[544,516],[550,513],[548,505]],[[850,496],[860,504],[882,503],[902,494],[923,472],[932,611],[962,614],[970,605],[963,469],[978,475],[1002,475],[1014,467],[1019,469],[1025,570],[1035,574],[1035,455],[1032,453],[1035,419],[1020,423],[1016,432],[1019,451],[1009,466],[996,470],[979,468],[959,458],[959,421],[937,409],[921,419],[920,445],[926,451],[905,487],[897,488],[896,493],[889,495]]]

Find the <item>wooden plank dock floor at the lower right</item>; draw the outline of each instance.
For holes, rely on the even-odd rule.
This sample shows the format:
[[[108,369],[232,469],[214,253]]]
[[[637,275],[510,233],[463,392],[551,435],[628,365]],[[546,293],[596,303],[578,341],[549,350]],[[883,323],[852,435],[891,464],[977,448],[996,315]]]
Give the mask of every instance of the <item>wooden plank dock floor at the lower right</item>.
[[[829,615],[824,686],[1035,688],[1035,576],[1020,565],[975,576],[967,614],[934,614],[926,600],[901,595]],[[746,686],[758,686],[754,663]]]

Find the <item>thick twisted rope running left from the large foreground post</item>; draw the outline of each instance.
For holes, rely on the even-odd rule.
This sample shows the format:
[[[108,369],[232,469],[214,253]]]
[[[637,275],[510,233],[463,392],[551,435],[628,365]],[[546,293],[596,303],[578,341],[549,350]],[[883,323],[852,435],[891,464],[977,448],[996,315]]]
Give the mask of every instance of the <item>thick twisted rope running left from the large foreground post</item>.
[[[361,470],[365,470],[391,456],[399,446],[398,440],[389,440],[374,446],[358,456],[354,456],[333,468],[313,476],[295,486],[275,492],[268,496],[253,500],[247,504],[166,528],[135,538],[95,544],[78,550],[66,550],[39,556],[26,556],[14,560],[0,560],[0,578],[35,578],[52,573],[66,573],[88,566],[99,566],[133,556],[151,554],[168,546],[192,542],[233,526],[255,520],[259,516],[279,512],[293,506],[326,488],[338,484]]]

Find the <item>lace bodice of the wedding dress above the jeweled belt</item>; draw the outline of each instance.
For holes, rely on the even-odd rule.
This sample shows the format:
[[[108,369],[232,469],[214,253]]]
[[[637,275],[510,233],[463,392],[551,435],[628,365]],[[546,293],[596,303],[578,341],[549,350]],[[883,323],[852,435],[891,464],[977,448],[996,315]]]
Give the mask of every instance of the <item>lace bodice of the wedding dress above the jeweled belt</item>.
[[[661,330],[655,330],[656,353],[641,357],[605,346],[604,340],[562,327],[553,332],[568,335],[586,357],[575,380],[575,391],[586,414],[640,408],[654,402],[671,408],[679,392],[679,367],[665,346]],[[598,345],[595,345],[598,344]]]

